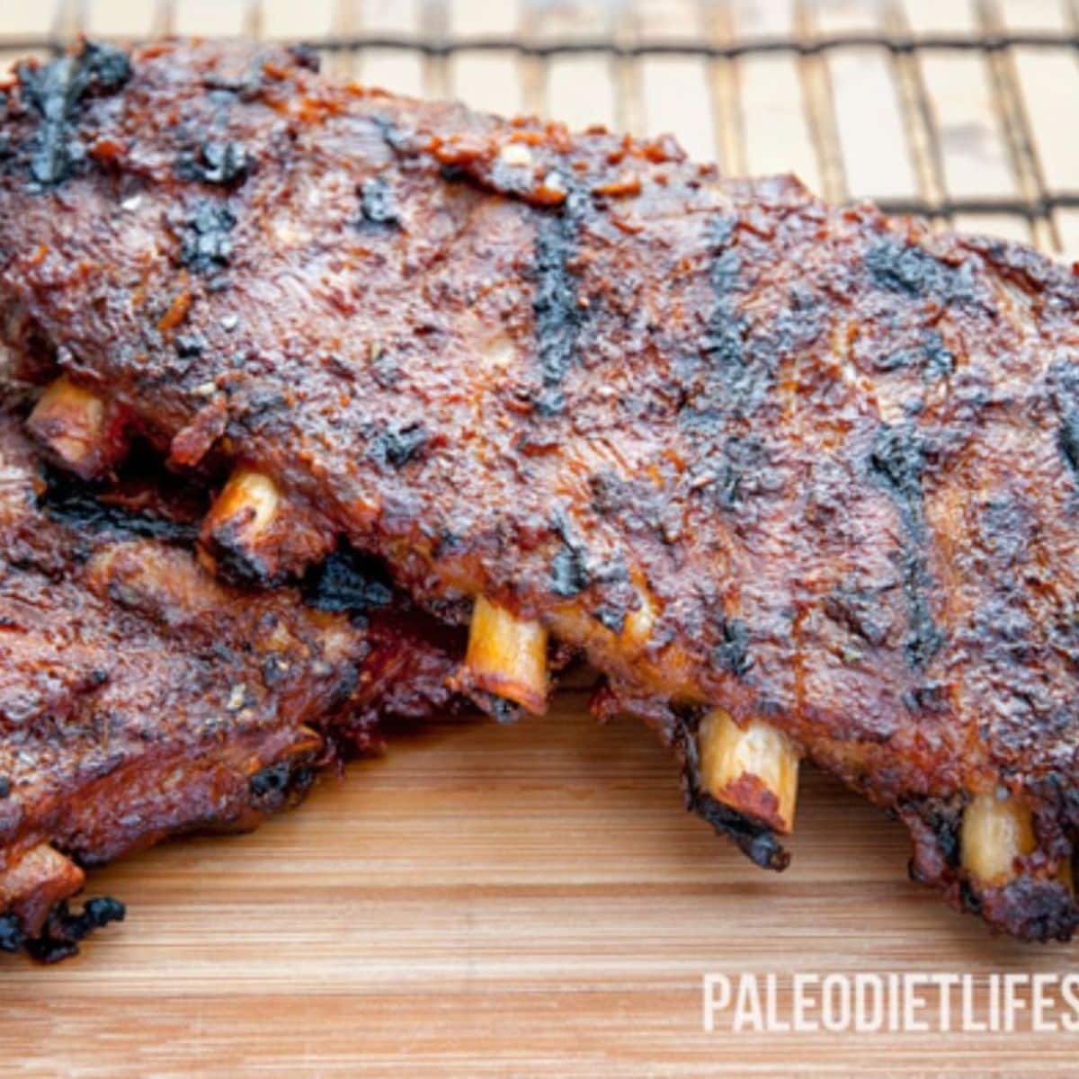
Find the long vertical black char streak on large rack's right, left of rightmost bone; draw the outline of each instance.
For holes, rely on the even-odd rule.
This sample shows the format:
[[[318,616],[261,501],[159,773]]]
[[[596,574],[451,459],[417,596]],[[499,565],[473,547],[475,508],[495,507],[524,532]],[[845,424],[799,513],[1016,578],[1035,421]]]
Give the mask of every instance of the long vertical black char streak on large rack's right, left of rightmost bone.
[[[926,563],[926,529],[923,514],[921,474],[926,447],[910,425],[883,425],[870,451],[870,470],[875,474],[899,506],[906,533],[900,552],[903,596],[907,609],[904,652],[907,664],[920,669],[944,643],[929,609],[932,582]]]

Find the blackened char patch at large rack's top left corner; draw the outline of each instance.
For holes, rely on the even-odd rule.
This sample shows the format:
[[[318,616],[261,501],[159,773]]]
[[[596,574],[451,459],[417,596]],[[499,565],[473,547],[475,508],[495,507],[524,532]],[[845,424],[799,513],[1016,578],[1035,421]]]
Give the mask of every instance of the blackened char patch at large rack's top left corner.
[[[67,179],[85,159],[82,140],[71,131],[76,111],[88,94],[109,94],[131,78],[126,53],[112,45],[83,43],[73,56],[35,68],[21,65],[23,99],[41,118],[29,150],[30,177],[42,187]]]

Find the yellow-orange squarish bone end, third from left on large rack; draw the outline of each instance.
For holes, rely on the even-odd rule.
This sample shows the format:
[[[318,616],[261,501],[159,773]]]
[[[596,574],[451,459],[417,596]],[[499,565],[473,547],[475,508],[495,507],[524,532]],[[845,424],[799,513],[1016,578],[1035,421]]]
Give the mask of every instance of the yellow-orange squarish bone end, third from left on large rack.
[[[460,688],[541,714],[547,707],[547,629],[480,596],[473,609]]]

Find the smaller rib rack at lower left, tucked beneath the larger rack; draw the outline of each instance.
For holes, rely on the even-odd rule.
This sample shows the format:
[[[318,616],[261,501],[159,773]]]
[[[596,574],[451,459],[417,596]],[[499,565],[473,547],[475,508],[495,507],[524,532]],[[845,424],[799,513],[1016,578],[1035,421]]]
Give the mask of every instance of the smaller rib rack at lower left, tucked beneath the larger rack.
[[[341,566],[312,599],[352,620],[216,582],[137,534],[161,520],[72,500],[79,523],[57,520],[42,487],[0,416],[0,948],[56,959],[123,916],[111,899],[68,909],[85,868],[254,827],[338,748],[377,743],[378,715],[445,708],[453,660],[414,614],[365,625]]]

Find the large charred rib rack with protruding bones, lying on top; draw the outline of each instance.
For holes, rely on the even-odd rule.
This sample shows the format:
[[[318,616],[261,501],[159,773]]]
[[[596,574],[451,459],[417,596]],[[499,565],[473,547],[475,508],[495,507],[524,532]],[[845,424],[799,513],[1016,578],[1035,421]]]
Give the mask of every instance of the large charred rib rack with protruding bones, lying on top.
[[[586,651],[599,707],[650,718],[762,864],[807,755],[953,903],[1068,938],[1070,272],[312,66],[87,44],[19,70],[0,302],[27,371],[68,379],[32,421],[56,460],[107,468],[131,429],[231,460],[204,540],[232,571],[346,535],[475,605],[480,696],[535,709],[548,633]]]

